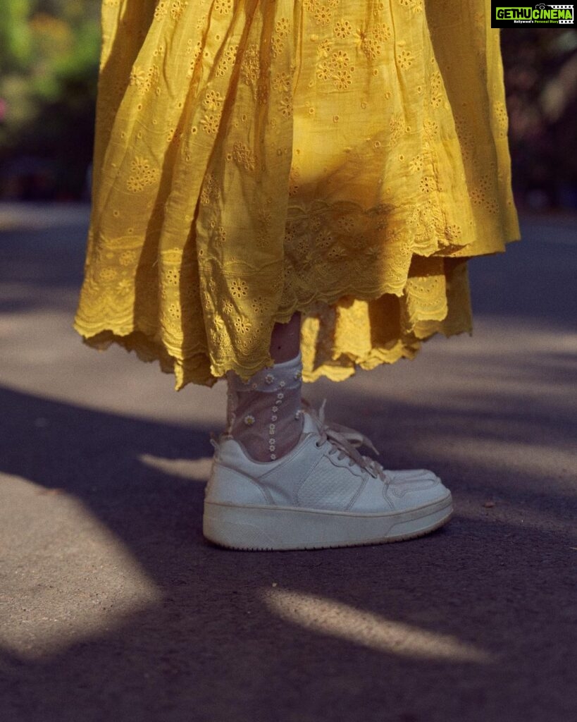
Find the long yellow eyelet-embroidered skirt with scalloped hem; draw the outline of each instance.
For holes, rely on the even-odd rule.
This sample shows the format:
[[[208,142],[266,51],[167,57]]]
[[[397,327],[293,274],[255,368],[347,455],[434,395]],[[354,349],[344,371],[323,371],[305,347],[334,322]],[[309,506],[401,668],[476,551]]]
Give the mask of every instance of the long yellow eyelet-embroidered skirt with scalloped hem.
[[[467,259],[519,238],[485,0],[103,0],[74,328],[175,388],[304,378],[471,329]]]

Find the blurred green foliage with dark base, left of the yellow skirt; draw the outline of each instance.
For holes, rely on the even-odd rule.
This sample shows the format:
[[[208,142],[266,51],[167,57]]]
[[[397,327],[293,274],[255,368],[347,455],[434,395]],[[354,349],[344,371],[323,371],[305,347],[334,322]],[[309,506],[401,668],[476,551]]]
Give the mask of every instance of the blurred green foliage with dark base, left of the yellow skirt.
[[[0,12],[0,195],[78,197],[92,156],[100,0]]]

